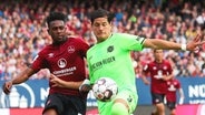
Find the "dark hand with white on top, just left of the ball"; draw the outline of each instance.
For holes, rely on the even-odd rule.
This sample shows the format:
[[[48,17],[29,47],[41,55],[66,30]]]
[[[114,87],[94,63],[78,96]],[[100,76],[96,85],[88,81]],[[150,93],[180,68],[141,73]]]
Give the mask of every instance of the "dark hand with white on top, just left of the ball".
[[[88,93],[90,90],[91,90],[90,81],[86,79],[79,86],[79,92]]]

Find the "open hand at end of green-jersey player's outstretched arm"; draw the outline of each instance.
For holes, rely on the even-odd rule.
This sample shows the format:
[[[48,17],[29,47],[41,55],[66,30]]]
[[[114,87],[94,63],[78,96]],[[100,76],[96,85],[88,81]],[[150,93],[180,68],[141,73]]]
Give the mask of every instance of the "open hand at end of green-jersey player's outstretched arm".
[[[198,51],[199,45],[205,43],[205,41],[202,41],[201,39],[202,39],[202,34],[197,34],[193,41],[187,43],[186,49],[189,51]]]

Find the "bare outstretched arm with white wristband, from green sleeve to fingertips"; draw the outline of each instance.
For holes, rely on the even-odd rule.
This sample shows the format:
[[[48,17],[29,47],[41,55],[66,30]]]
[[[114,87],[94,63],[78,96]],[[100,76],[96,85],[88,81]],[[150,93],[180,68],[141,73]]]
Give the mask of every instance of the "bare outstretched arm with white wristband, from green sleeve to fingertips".
[[[188,51],[196,51],[199,45],[204,44],[205,41],[201,41],[202,35],[197,34],[193,41],[188,42],[187,44],[179,44],[176,42],[170,42],[166,40],[159,39],[145,39],[144,46],[152,48],[152,49],[163,49],[163,50],[188,50]]]

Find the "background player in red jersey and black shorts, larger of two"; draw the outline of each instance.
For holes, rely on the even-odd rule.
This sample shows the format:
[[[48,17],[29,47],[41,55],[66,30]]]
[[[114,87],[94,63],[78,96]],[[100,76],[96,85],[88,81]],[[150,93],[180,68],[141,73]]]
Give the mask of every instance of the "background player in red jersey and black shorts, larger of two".
[[[143,81],[149,84],[145,75],[150,76],[152,101],[156,107],[154,115],[165,115],[164,100],[167,92],[166,81],[174,77],[173,69],[168,61],[164,60],[163,50],[154,50],[155,61],[146,64],[143,69]]]

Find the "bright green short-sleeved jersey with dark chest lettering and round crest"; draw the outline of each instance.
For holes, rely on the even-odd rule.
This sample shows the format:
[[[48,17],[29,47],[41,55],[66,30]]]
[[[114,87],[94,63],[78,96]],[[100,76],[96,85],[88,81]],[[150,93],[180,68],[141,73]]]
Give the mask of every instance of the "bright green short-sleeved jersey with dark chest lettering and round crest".
[[[110,77],[123,88],[136,92],[135,71],[130,51],[141,51],[144,38],[126,33],[113,33],[106,41],[91,46],[87,52],[90,83],[99,77]],[[137,92],[136,92],[137,93]]]

